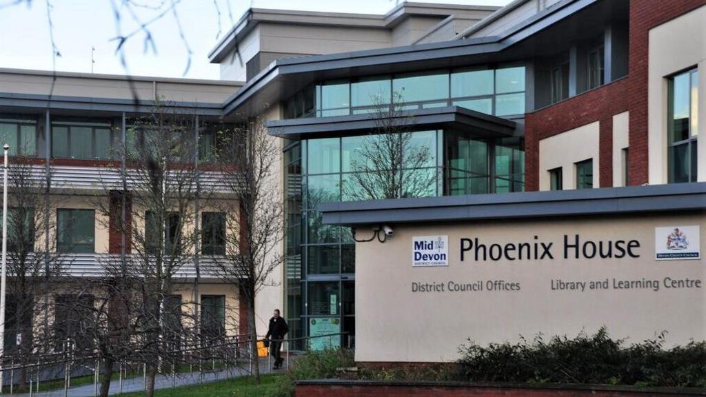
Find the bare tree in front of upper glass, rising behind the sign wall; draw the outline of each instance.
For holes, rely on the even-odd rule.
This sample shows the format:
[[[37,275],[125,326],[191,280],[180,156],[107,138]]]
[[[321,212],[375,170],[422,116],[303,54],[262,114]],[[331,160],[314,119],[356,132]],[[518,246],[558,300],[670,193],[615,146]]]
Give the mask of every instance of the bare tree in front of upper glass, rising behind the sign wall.
[[[357,201],[429,195],[436,181],[435,153],[414,142],[409,131],[414,117],[405,111],[401,95],[395,93],[391,103],[378,104],[371,118],[376,128],[361,137],[351,155],[354,172],[343,183],[344,198]]]

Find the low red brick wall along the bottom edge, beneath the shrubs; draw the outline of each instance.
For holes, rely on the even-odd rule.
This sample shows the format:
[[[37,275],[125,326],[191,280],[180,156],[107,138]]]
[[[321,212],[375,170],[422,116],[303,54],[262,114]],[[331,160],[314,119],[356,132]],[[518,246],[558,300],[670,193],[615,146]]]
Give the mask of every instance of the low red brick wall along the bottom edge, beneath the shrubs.
[[[314,382],[312,382],[314,383]],[[366,397],[366,396],[414,396],[414,397],[668,397],[706,396],[706,390],[664,389],[636,390],[634,388],[614,388],[574,386],[410,386],[400,384],[298,384],[296,397]]]

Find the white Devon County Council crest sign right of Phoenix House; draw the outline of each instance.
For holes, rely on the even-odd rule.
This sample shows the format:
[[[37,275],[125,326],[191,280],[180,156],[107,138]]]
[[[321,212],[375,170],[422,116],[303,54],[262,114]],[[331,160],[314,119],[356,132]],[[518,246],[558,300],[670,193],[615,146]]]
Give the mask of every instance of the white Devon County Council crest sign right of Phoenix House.
[[[657,260],[700,259],[698,226],[654,228],[654,256]]]

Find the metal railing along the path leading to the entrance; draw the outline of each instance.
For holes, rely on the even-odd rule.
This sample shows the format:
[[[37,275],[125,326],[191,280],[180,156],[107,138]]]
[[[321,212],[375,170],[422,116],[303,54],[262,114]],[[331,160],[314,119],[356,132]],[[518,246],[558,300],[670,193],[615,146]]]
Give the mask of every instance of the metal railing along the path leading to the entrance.
[[[292,343],[301,343],[307,346],[305,350],[309,350],[311,340],[317,338],[344,338],[349,339],[350,345],[351,335],[347,332],[330,333],[318,336],[304,336],[298,338],[282,338],[269,339],[270,344],[265,348],[267,354],[267,369],[265,374],[270,374],[273,371],[273,354],[270,350],[272,342],[281,343],[283,367],[289,369],[290,357],[294,355],[294,351],[290,349]],[[191,338],[193,339],[193,338]],[[212,380],[219,380],[220,375],[224,374],[225,379],[240,375],[253,374],[255,365],[261,367],[261,359],[259,352],[252,351],[250,335],[224,336],[215,338],[206,342],[191,340],[180,340],[175,349],[165,349],[160,352],[160,357],[157,360],[157,375],[171,377],[172,387],[177,385],[177,377],[182,374],[188,374],[193,378],[196,374],[198,383],[202,383],[205,379],[205,374],[214,374]],[[257,342],[264,342],[266,339],[258,337]],[[169,343],[173,343],[170,341]],[[168,343],[167,343],[168,344]],[[332,344],[336,347],[337,344]],[[259,348],[259,344],[258,344]],[[74,340],[66,340],[61,345],[61,352],[51,352],[41,355],[32,355],[32,357],[10,356],[6,355],[0,360],[2,371],[8,375],[1,379],[0,384],[9,386],[10,395],[18,386],[17,374],[25,371],[26,384],[28,389],[23,393],[29,393],[32,396],[34,393],[42,389],[42,383],[50,382],[54,385],[53,390],[63,389],[63,396],[68,396],[68,389],[71,388],[72,380],[76,378],[82,379],[82,385],[90,384],[85,382],[85,378],[92,377],[93,392],[95,396],[99,395],[100,377],[102,363],[104,357],[93,351],[87,354],[85,350],[81,351],[76,348]],[[259,349],[258,349],[259,350]],[[130,357],[123,357],[114,363],[113,374],[117,375],[118,393],[123,393],[123,385],[126,379],[137,379],[143,377],[143,384],[146,388],[148,375],[148,362],[144,360],[143,351],[135,350]],[[141,372],[141,374],[140,374]],[[56,381],[63,381],[62,387],[56,388]],[[193,382],[196,383],[196,382]],[[6,389],[1,388],[0,393],[4,394]]]

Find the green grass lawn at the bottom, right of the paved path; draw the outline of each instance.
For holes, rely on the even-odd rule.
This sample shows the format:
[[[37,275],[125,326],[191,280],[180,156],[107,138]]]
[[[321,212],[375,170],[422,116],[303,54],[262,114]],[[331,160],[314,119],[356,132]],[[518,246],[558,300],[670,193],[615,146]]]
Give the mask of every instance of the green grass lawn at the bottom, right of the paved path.
[[[253,384],[251,377],[228,379],[208,384],[181,386],[175,389],[155,390],[156,397],[262,397],[272,389],[275,380],[283,374],[262,375],[261,384]],[[144,392],[124,393],[122,397],[144,396]]]

